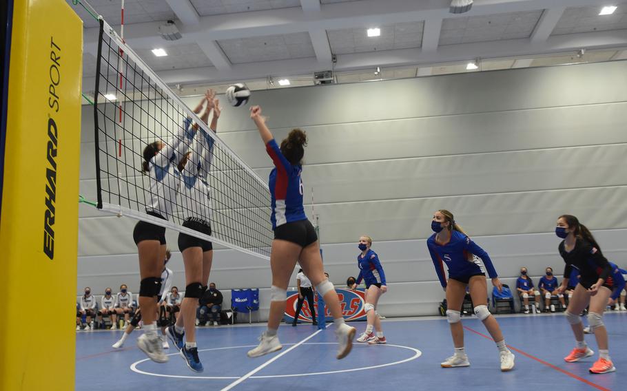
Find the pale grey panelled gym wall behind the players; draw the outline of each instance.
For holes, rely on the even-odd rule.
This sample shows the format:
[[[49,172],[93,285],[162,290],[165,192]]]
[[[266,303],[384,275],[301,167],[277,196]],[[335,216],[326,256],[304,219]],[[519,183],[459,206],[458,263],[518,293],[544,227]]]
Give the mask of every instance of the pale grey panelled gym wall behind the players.
[[[336,286],[358,274],[356,242],[371,235],[389,282],[380,313],[433,315],[443,293],[424,240],[437,209],[455,213],[510,285],[523,265],[533,276],[546,266],[561,274],[552,232],[562,213],[627,266],[626,85],[627,62],[617,61],[255,91],[250,104],[263,107],[278,140],[292,127],[307,131],[306,211],[313,187]],[[218,136],[267,180],[271,160],[247,107],[223,106]],[[81,194],[95,200],[91,106],[82,118]],[[121,283],[138,291],[134,224],[81,204],[77,293]],[[178,250],[176,233],[167,241]],[[169,267],[183,290],[178,251]],[[267,288],[271,276],[265,260],[217,250],[210,279],[226,304],[228,289]],[[264,290],[260,301],[265,319]]]

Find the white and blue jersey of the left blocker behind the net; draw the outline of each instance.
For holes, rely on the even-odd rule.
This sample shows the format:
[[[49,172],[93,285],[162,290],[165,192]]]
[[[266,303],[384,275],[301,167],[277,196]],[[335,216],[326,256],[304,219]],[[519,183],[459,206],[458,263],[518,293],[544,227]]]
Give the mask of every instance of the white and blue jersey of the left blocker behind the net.
[[[191,125],[192,119],[186,118],[178,128],[172,145],[166,144],[148,163],[150,204],[146,206],[146,211],[157,213],[165,220],[172,215],[176,205],[180,180],[176,166],[194,140],[195,132],[190,129]]]

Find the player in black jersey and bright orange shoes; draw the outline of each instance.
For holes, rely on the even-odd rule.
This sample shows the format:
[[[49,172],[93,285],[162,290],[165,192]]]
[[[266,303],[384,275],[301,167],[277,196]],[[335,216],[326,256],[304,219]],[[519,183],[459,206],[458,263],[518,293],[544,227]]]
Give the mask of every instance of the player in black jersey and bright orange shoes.
[[[581,276],[564,313],[575,334],[577,346],[570,355],[564,357],[564,361],[572,363],[595,354],[584,341],[584,325],[579,317],[582,310],[589,304],[588,324],[599,346],[599,359],[589,371],[590,373],[614,372],[616,368],[608,350],[608,332],[603,324],[603,310],[615,285],[612,267],[603,256],[595,237],[584,224],[579,223],[575,216],[559,216],[555,235],[564,239],[557,249],[566,262],[564,279],[562,279],[562,285],[557,288],[557,293],[562,293],[568,286],[568,279],[573,268],[577,268]]]

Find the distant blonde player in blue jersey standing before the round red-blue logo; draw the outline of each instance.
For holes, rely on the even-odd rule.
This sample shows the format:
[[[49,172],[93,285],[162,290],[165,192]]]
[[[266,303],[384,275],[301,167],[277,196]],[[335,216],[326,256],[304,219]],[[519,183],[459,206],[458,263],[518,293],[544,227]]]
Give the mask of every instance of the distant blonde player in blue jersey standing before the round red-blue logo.
[[[385,344],[387,341],[383,335],[381,328],[381,319],[377,313],[377,303],[379,297],[387,292],[387,284],[385,283],[385,273],[381,267],[379,256],[370,249],[372,246],[372,238],[363,235],[359,238],[359,249],[362,251],[357,256],[357,264],[359,266],[359,275],[351,288],[356,289],[362,279],[366,283],[366,293],[364,310],[366,311],[367,325],[366,331],[357,339],[358,342],[368,342],[369,344]],[[376,335],[372,332],[375,328]]]

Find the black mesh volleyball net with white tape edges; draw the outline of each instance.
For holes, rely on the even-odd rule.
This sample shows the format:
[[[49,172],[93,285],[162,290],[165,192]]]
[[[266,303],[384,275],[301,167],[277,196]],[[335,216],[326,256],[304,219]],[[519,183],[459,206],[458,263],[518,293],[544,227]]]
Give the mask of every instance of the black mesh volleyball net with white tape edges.
[[[269,259],[273,235],[267,184],[103,20],[99,35],[94,89],[98,208]],[[181,143],[194,123],[193,140]],[[202,160],[198,167],[208,167],[206,178],[196,178],[205,181],[208,194],[182,191],[192,184],[178,169],[156,170],[163,191],[176,194],[172,210],[159,211],[167,220],[147,213],[153,196],[163,196],[142,173],[143,151],[155,141],[163,142],[162,151],[184,145],[183,156],[191,152]],[[183,227],[190,216],[209,222],[211,235]]]

